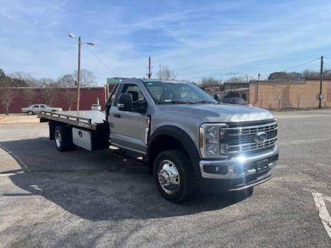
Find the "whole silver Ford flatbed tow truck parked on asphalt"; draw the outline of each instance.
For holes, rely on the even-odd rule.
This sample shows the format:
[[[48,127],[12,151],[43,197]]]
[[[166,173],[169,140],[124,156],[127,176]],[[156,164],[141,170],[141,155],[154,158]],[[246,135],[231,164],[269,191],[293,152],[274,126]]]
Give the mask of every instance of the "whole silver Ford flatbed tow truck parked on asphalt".
[[[126,79],[105,112],[40,112],[60,152],[117,147],[140,158],[161,195],[179,203],[203,187],[252,193],[279,159],[277,120],[257,107],[223,104],[184,81]]]

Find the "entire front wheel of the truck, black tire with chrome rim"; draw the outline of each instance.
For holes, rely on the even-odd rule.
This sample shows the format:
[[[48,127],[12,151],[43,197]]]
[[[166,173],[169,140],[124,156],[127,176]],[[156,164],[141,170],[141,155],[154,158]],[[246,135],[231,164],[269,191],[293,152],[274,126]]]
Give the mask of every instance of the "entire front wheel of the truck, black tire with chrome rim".
[[[154,180],[161,195],[174,203],[194,193],[194,176],[188,156],[178,150],[161,152],[154,161]]]

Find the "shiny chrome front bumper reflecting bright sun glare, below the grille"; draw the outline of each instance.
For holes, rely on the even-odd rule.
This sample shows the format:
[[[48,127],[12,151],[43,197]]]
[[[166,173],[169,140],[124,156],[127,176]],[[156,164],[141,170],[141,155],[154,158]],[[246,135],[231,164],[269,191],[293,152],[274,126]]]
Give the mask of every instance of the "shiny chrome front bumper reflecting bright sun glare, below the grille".
[[[251,155],[241,155],[229,160],[219,160],[219,161],[205,161],[201,160],[199,162],[201,176],[202,178],[212,178],[212,179],[240,179],[247,176],[257,175],[261,170],[261,167],[257,167],[259,161],[267,161],[268,166],[263,168],[263,172],[269,172],[274,165],[277,164],[279,159],[279,149],[274,146],[273,149],[265,150],[257,154]],[[212,171],[215,166],[220,166],[222,168],[222,174],[208,173]],[[207,171],[207,172],[206,172]]]

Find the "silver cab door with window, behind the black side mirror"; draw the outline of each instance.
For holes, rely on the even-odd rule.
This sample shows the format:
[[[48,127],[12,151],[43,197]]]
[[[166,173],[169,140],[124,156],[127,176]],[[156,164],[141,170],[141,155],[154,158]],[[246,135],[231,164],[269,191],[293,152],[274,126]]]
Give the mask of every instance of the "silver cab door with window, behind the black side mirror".
[[[117,100],[122,93],[132,95],[132,112],[120,111]],[[123,83],[119,85],[116,97],[109,111],[110,141],[113,145],[146,154],[146,113],[134,110],[135,105],[146,102],[139,85]]]

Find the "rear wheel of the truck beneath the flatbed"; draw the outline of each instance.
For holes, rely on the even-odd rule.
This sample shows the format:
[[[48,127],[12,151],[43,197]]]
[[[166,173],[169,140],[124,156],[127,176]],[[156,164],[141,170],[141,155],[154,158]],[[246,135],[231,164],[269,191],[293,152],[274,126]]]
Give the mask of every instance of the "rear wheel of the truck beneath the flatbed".
[[[72,134],[70,133],[70,130],[70,127],[64,125],[55,127],[54,141],[59,152],[66,152],[69,149],[72,149]]]

